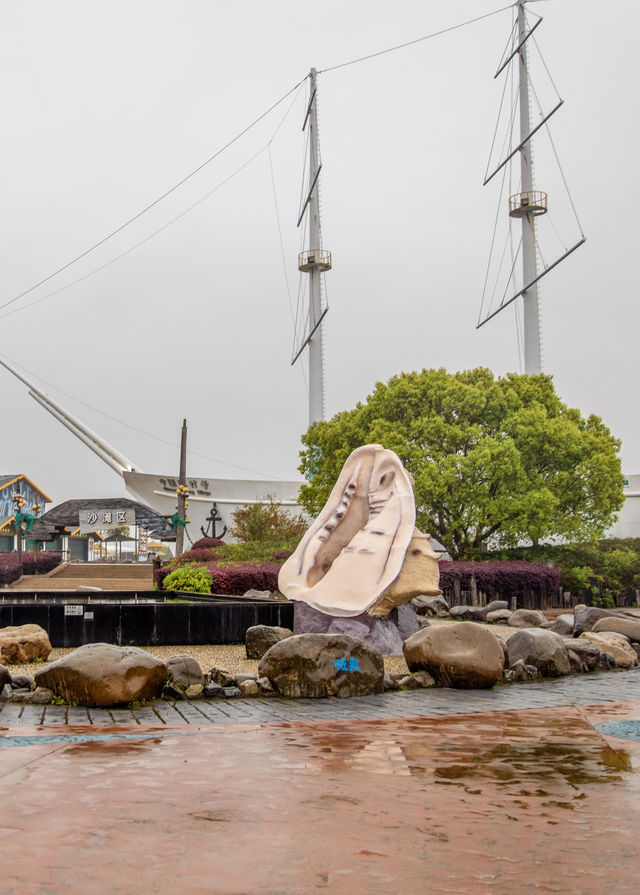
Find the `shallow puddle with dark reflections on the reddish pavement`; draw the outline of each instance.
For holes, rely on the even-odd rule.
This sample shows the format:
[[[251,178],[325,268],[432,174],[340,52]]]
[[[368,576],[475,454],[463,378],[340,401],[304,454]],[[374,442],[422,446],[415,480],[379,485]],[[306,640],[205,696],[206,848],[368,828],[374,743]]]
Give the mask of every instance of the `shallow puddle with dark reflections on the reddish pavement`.
[[[549,710],[477,720],[360,722],[348,729],[310,724],[285,739],[288,747],[306,746],[304,766],[312,773],[351,769],[422,777],[470,795],[486,781],[519,797],[547,797],[560,787],[573,802],[586,785],[619,783],[633,774],[624,748],[607,745],[578,713],[558,717]]]

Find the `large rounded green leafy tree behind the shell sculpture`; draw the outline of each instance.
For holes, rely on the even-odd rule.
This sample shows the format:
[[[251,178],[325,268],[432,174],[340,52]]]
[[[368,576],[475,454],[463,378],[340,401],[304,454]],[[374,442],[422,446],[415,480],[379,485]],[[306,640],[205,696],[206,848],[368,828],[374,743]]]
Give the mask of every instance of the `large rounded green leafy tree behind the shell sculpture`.
[[[488,542],[592,540],[623,503],[620,442],[598,417],[563,404],[546,375],[403,373],[311,425],[302,441],[309,513],[320,511],[352,450],[382,444],[413,475],[418,526],[456,559]]]

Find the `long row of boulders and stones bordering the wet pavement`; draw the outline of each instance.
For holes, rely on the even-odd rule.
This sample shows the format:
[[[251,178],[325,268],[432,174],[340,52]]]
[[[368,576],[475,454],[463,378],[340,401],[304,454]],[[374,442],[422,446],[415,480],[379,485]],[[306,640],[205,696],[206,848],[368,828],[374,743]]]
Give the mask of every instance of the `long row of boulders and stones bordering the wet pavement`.
[[[247,654],[261,656],[257,674],[231,674],[217,667],[204,673],[189,655],[172,656],[163,663],[136,647],[95,643],[43,666],[35,678],[12,676],[0,664],[0,698],[15,703],[112,706],[159,697],[349,697],[433,686],[487,688],[501,679],[535,681],[631,668],[640,659],[637,616],[577,607],[574,614],[561,615],[551,623],[542,613],[511,613],[495,603],[448,610],[442,597],[421,596],[414,606],[423,613],[423,627],[404,639],[409,674],[385,672],[381,653],[348,634],[292,634],[286,628],[260,625],[248,629],[246,637]],[[430,624],[427,620],[461,609],[472,609],[473,621]],[[506,614],[514,629],[508,639],[491,628],[494,618],[504,619]],[[12,658],[28,655],[25,644],[40,643],[43,652],[50,650],[45,631],[36,625],[22,627],[37,630],[12,629],[13,640],[7,642],[18,645],[10,650]]]

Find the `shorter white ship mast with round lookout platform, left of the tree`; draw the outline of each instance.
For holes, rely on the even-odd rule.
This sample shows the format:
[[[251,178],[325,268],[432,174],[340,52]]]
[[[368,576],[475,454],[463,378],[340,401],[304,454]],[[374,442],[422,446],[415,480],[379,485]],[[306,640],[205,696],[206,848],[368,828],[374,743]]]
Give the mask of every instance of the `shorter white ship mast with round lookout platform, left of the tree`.
[[[324,345],[323,320],[328,308],[323,307],[322,283],[325,271],[331,270],[331,252],[322,247],[320,226],[319,181],[322,162],[318,138],[317,73],[315,68],[309,74],[310,98],[302,129],[309,126],[309,190],[300,211],[298,226],[305,214],[309,218],[309,248],[298,255],[298,269],[309,274],[309,304],[306,335],[297,348],[292,364],[309,346],[309,425],[325,417],[324,389]]]

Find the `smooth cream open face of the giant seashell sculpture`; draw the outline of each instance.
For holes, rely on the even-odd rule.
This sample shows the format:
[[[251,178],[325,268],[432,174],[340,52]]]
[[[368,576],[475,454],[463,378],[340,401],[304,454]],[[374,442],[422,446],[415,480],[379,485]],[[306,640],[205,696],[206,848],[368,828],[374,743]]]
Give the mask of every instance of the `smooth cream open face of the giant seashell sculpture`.
[[[280,591],[328,615],[365,612],[400,574],[415,519],[411,478],[396,454],[357,448],[282,566]]]

